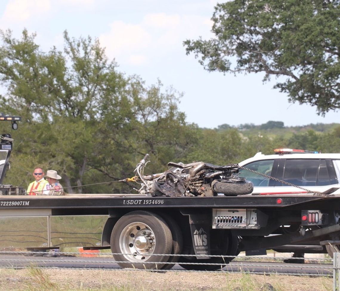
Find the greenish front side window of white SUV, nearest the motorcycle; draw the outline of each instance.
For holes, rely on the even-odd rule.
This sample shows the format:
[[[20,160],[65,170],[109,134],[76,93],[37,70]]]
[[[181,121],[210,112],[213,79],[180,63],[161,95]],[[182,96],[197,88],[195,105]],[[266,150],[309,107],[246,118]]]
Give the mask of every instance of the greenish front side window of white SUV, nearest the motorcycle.
[[[270,176],[272,168],[273,168],[273,163],[274,163],[274,160],[262,160],[262,161],[252,162],[248,165],[244,165],[244,167]],[[248,170],[240,169],[239,176],[246,177],[246,179],[252,182],[255,187],[257,186],[266,187],[269,185],[269,180],[270,180],[269,178],[263,177],[259,174],[255,174]]]

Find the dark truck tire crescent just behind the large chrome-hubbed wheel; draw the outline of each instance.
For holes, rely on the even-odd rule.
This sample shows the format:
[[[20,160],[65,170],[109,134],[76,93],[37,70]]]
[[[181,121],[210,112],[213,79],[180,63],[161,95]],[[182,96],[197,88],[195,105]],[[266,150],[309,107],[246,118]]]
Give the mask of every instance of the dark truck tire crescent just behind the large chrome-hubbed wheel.
[[[162,217],[165,219],[166,223],[168,224],[171,234],[172,234],[172,255],[180,255],[183,249],[183,235],[180,227],[178,226],[177,222],[169,215],[162,214]],[[165,264],[162,267],[162,270],[170,270],[174,263],[178,262],[180,256],[170,256],[168,262],[171,264]]]

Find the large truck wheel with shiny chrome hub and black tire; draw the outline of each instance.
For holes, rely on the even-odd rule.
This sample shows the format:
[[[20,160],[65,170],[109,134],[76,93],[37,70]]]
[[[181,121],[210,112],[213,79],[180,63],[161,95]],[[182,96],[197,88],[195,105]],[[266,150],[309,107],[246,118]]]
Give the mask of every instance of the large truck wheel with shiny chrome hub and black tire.
[[[157,214],[132,211],[117,221],[110,244],[120,267],[159,270],[169,259],[166,254],[171,254],[172,236],[167,223]]]

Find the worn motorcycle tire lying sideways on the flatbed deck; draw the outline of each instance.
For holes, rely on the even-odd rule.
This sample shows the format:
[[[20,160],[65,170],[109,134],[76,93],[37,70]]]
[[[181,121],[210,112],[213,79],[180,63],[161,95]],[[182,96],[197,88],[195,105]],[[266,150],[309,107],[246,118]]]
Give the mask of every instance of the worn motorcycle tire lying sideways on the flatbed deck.
[[[245,195],[253,192],[254,185],[250,181],[231,182],[228,180],[214,180],[211,183],[212,190],[223,193],[225,196]]]

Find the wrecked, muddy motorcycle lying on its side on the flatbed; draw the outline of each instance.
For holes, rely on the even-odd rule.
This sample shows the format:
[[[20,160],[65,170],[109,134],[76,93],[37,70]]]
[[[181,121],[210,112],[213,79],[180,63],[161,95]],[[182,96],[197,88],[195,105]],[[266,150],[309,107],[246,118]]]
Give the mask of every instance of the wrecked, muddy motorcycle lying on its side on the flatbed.
[[[237,196],[250,194],[253,183],[238,176],[239,166],[229,164],[216,166],[206,162],[169,162],[169,170],[163,173],[144,175],[149,155],[137,164],[134,181],[140,182],[140,194],[149,196]]]

